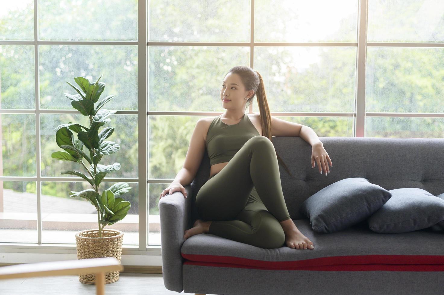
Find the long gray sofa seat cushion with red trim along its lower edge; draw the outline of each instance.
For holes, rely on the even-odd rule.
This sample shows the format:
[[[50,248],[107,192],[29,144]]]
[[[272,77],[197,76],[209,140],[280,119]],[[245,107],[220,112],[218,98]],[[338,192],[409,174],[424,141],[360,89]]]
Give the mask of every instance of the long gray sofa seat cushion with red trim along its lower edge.
[[[293,220],[314,249],[266,249],[212,234],[186,239],[184,264],[319,271],[444,271],[442,233],[415,231],[380,234],[366,222],[329,235],[314,232],[307,219]],[[420,241],[420,244],[418,244]]]

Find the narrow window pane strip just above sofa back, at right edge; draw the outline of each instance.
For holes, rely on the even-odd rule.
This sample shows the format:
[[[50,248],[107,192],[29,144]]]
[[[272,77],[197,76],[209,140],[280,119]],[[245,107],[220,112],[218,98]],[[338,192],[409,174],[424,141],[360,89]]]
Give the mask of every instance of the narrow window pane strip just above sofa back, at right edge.
[[[444,119],[366,117],[364,137],[444,138]]]

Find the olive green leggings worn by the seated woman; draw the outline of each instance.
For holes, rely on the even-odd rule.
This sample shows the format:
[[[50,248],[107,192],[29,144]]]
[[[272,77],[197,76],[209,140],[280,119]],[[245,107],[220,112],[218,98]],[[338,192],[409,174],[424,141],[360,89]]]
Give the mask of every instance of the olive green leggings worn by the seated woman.
[[[270,139],[250,138],[202,185],[196,208],[202,220],[212,221],[211,234],[260,248],[282,247],[285,234],[279,222],[291,217]]]

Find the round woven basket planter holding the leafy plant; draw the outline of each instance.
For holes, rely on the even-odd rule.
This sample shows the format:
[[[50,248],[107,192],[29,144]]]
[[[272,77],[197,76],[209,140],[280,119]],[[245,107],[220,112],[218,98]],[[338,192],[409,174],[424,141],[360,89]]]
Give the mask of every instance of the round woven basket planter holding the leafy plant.
[[[77,259],[115,257],[122,258],[123,232],[116,229],[103,229],[99,237],[98,229],[88,229],[75,234],[77,244]],[[114,283],[119,280],[119,271],[105,273],[105,283]],[[79,275],[79,281],[86,284],[95,284],[95,274]]]

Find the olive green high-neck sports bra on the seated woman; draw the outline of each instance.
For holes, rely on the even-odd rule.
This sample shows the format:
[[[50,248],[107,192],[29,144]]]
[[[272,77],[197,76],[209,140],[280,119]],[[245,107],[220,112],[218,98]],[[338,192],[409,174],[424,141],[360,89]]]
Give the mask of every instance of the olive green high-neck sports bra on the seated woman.
[[[213,119],[206,134],[206,149],[210,166],[229,162],[238,150],[252,137],[261,135],[245,113],[237,124],[227,125],[222,115]]]

